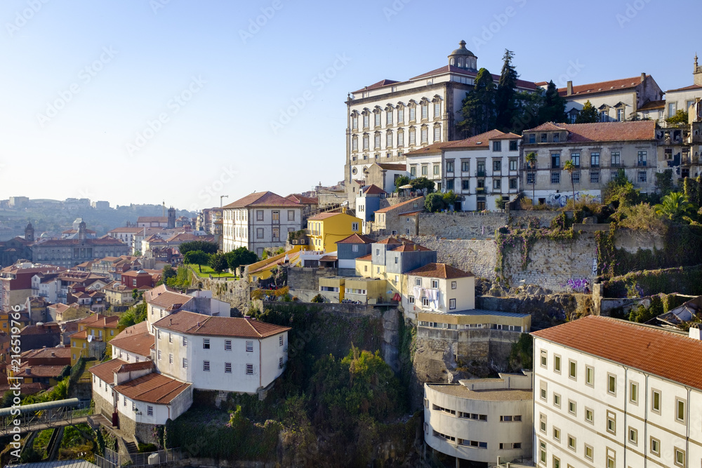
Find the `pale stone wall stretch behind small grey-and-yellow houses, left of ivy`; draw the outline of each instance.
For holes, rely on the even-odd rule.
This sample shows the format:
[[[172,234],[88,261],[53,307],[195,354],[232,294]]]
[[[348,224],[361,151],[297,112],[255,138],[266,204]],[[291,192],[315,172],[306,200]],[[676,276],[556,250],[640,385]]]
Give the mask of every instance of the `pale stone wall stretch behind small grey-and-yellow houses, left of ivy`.
[[[495,241],[441,239],[437,236],[409,236],[413,242],[437,251],[437,262],[471,272],[479,278],[495,279]]]

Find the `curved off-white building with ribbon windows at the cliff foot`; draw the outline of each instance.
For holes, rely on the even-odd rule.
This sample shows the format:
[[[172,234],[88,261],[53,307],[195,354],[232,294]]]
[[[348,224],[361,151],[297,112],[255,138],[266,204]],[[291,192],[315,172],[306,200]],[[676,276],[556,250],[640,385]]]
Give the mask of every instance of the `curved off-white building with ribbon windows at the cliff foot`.
[[[530,458],[533,393],[531,372],[426,383],[424,440],[433,450],[456,457],[456,467],[458,459],[494,466]]]

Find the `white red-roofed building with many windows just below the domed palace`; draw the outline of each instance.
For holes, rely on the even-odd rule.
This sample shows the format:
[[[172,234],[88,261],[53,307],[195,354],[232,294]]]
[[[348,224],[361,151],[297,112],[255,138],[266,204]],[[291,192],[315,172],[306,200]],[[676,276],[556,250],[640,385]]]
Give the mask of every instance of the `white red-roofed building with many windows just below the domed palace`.
[[[491,130],[406,154],[411,178],[433,180],[438,192],[458,194],[463,211],[496,210],[498,200],[519,193],[519,146],[515,133]]]

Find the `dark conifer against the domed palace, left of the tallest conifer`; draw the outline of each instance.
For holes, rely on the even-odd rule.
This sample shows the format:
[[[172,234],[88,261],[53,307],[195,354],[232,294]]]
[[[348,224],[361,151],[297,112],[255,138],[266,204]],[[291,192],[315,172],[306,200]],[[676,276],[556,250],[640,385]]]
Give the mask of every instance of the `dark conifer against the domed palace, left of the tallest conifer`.
[[[464,135],[477,135],[495,126],[495,82],[492,74],[481,68],[475,76],[473,89],[465,94],[461,115],[463,120],[456,127]]]

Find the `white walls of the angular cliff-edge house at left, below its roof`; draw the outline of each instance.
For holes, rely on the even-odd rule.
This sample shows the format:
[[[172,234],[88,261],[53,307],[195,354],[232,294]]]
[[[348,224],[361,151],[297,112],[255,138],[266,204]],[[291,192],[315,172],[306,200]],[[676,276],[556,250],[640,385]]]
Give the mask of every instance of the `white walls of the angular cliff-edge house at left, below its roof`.
[[[196,389],[254,394],[279,377],[287,362],[287,332],[256,339],[154,328],[159,371]]]

